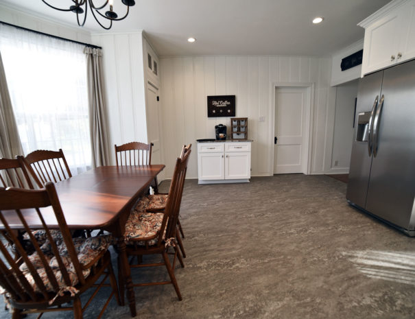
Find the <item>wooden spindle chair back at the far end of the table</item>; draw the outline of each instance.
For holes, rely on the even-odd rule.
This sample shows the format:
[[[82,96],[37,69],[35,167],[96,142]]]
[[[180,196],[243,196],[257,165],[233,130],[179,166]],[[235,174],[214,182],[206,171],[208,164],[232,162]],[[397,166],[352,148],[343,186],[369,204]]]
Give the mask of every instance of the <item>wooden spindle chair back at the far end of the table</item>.
[[[117,166],[150,165],[152,163],[152,144],[131,142],[115,146]]]

